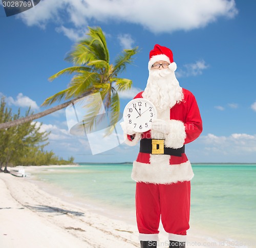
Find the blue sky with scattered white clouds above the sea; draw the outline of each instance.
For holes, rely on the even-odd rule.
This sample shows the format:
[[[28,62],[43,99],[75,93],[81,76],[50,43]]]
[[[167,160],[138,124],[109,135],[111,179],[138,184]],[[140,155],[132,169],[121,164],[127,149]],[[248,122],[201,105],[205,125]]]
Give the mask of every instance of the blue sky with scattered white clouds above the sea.
[[[150,4],[149,4],[150,3]],[[198,102],[203,132],[186,145],[191,163],[256,162],[256,2],[244,0],[41,0],[6,17],[0,4],[0,96],[12,111],[39,112],[44,100],[71,79],[48,78],[72,66],[65,57],[88,32],[103,30],[111,62],[139,48],[120,76],[133,81],[120,93],[121,109],[145,88],[149,52],[156,43],[173,51],[176,76]],[[86,136],[69,132],[65,109],[35,120],[51,131],[45,148],[75,162],[132,162],[139,146],[121,144],[92,154]]]

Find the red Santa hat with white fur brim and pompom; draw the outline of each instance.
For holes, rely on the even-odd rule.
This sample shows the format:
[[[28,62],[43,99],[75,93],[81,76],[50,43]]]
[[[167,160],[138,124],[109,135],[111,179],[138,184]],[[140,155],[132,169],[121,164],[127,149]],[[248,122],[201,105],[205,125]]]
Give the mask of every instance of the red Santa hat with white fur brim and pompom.
[[[150,51],[150,61],[148,62],[148,70],[151,70],[152,65],[159,60],[164,60],[169,63],[169,69],[176,71],[177,64],[174,62],[172,50],[155,44],[153,50]]]

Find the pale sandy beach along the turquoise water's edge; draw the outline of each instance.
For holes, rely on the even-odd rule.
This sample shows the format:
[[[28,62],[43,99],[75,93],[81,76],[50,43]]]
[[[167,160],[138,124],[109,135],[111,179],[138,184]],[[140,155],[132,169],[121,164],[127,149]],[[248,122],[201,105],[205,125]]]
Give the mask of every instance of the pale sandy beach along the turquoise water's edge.
[[[33,174],[42,168],[28,167],[26,172]],[[140,247],[135,223],[73,205],[49,190],[41,190],[27,177],[0,173],[0,189],[1,248]],[[202,231],[195,227],[189,230],[186,247],[224,246]],[[159,239],[158,247],[168,247],[161,226]]]

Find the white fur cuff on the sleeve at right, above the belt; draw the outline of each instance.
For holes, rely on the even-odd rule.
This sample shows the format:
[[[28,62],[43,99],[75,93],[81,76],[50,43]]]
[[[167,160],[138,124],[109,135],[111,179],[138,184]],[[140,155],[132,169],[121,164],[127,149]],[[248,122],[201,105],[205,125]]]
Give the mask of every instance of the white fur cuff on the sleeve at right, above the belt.
[[[184,123],[177,120],[169,120],[168,122],[170,131],[165,136],[164,146],[175,149],[182,147],[186,138]]]

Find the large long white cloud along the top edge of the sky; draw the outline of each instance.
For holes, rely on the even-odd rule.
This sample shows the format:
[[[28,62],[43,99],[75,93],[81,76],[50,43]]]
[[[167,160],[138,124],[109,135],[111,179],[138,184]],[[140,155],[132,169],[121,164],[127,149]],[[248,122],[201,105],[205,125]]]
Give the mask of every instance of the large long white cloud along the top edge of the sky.
[[[234,0],[45,0],[35,8],[20,13],[28,26],[46,28],[49,21],[57,25],[71,23],[76,28],[89,21],[105,23],[123,21],[138,24],[153,33],[171,33],[207,26],[219,17],[233,18],[238,13]],[[161,25],[159,21],[161,20]]]

